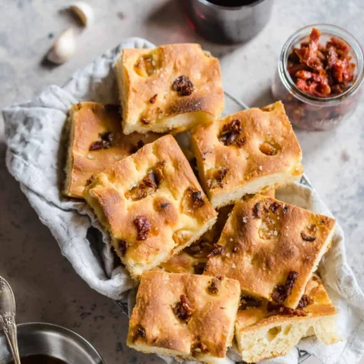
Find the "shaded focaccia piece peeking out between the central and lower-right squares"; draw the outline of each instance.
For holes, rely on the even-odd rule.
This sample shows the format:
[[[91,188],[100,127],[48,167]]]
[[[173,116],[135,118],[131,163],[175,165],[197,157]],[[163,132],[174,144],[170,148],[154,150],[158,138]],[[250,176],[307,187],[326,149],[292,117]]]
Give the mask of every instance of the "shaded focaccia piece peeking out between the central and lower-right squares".
[[[232,208],[232,206],[221,207],[217,211],[217,222],[213,227],[188,248],[162,263],[160,267],[172,273],[202,274],[207,263],[207,256],[220,238]]]

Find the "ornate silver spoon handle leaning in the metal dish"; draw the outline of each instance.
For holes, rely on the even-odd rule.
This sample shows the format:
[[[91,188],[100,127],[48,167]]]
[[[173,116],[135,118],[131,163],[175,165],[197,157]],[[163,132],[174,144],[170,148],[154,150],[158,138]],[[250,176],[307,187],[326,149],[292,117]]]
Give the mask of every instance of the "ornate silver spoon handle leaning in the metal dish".
[[[7,342],[12,350],[15,364],[20,364],[16,339],[14,293],[9,283],[2,277],[0,277],[0,325],[3,327]]]

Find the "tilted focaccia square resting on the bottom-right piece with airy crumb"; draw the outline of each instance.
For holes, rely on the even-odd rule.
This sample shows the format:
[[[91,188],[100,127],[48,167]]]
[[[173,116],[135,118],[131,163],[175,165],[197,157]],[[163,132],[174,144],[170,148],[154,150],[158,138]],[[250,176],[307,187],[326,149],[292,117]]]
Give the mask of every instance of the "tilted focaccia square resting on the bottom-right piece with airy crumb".
[[[328,250],[335,219],[255,195],[235,205],[205,274],[235,278],[249,296],[296,308]]]

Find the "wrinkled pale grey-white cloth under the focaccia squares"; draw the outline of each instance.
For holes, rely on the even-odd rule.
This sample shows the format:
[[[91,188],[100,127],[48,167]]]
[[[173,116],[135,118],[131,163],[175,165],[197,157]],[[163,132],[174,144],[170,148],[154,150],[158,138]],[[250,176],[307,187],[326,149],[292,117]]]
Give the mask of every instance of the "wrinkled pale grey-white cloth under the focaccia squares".
[[[115,49],[76,71],[65,86],[49,86],[31,102],[4,110],[7,144],[6,166],[40,220],[51,230],[62,254],[77,274],[99,293],[113,299],[127,297],[134,283],[124,268],[117,266],[109,238],[84,201],[63,197],[65,180],[67,110],[79,101],[117,103],[114,62],[123,47],[148,48],[144,39],[129,38]],[[330,215],[315,191],[291,185],[278,191],[288,203]],[[332,247],[319,264],[319,274],[339,311],[342,342],[324,346],[315,337],[302,339],[307,350],[323,363],[355,364],[364,352],[364,295],[345,258],[345,238],[338,227]],[[133,289],[132,292],[136,290]],[[133,296],[135,293],[133,294]],[[133,302],[133,298],[129,299]],[[129,305],[131,306],[131,305]],[[234,349],[227,362],[238,360]],[[175,359],[164,358],[168,363]],[[296,364],[298,350],[268,364]]]

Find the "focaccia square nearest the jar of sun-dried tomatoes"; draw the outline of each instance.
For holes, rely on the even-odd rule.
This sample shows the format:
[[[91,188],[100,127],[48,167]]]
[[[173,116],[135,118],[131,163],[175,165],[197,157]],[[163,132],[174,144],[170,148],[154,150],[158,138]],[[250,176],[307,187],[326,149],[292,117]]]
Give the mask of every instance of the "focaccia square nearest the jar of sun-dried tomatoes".
[[[303,173],[301,148],[280,101],[197,126],[191,147],[214,207],[288,184]]]

